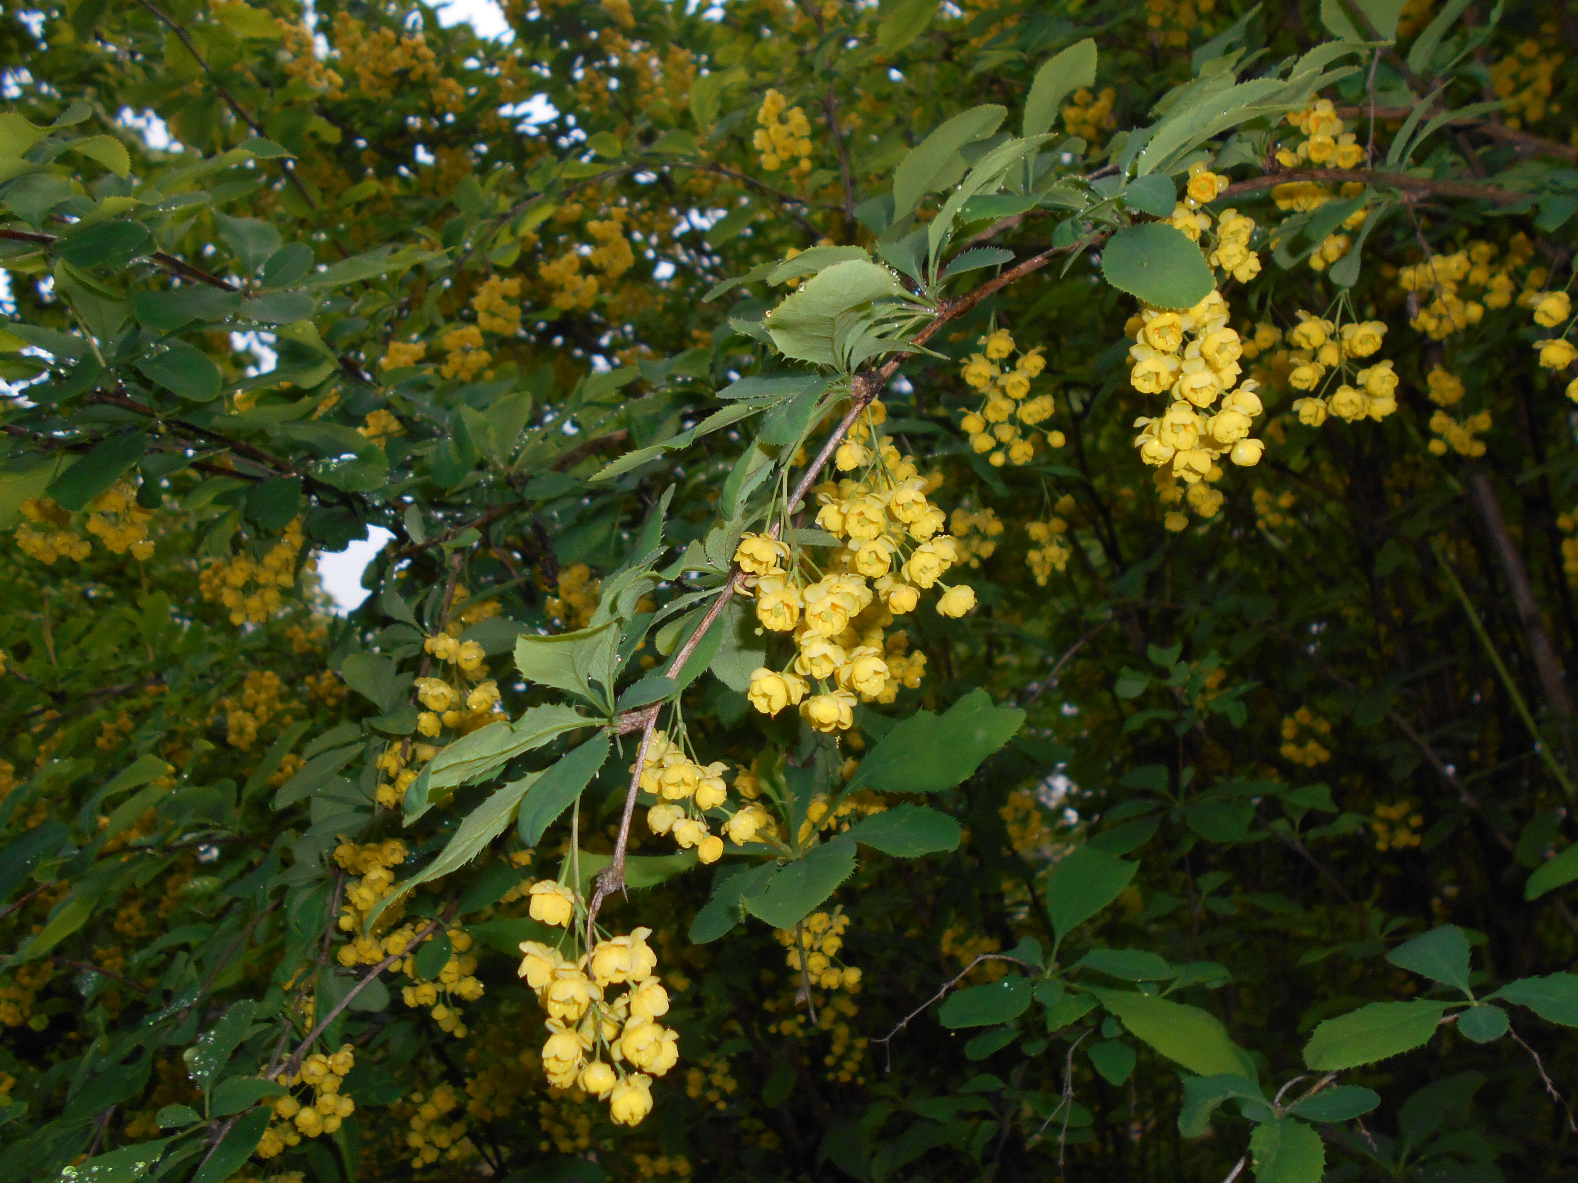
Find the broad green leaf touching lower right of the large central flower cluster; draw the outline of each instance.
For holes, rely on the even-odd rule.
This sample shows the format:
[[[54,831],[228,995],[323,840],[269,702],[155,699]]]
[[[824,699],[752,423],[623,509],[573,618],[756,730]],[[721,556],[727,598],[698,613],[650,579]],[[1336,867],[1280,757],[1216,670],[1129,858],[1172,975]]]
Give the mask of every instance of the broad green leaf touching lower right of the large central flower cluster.
[[[849,790],[936,793],[975,774],[1024,722],[1018,707],[994,707],[974,689],[942,715],[915,711],[898,722],[860,762]]]

